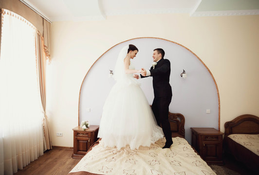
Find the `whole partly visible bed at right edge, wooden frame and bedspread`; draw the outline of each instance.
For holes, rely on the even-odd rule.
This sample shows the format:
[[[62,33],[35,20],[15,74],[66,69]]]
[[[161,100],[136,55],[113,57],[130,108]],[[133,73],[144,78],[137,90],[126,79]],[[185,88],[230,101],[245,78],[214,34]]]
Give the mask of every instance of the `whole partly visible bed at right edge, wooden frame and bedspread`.
[[[226,122],[223,149],[254,172],[259,168],[259,117],[241,115]]]

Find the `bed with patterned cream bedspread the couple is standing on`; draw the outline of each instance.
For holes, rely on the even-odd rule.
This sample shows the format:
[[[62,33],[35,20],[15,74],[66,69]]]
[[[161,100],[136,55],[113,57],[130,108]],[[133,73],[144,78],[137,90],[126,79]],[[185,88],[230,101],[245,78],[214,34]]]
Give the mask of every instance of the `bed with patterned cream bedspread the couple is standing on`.
[[[165,138],[138,150],[105,148],[99,139],[69,175],[216,175],[185,138],[185,117],[168,114],[173,145]]]

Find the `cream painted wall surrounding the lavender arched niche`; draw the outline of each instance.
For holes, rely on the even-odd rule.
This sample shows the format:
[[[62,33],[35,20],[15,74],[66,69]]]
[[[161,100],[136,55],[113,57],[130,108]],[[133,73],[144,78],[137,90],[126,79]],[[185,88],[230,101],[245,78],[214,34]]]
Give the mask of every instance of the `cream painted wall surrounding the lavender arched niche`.
[[[259,116],[259,16],[111,16],[102,21],[54,22],[47,66],[47,115],[56,146],[73,147],[79,90],[94,61],[117,43],[159,37],[197,54],[220,93],[221,131],[241,114]],[[56,137],[62,132],[63,137]]]

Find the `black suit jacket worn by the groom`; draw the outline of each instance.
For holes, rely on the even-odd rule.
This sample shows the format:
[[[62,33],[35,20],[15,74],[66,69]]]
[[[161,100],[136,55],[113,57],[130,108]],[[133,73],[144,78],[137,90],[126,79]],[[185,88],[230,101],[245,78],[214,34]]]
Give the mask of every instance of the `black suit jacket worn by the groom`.
[[[170,78],[170,61],[162,58],[158,61],[155,69],[151,67],[150,76],[153,77],[153,89],[155,97],[171,97],[172,96],[172,88],[169,84]],[[145,78],[148,76],[142,76],[141,78]]]

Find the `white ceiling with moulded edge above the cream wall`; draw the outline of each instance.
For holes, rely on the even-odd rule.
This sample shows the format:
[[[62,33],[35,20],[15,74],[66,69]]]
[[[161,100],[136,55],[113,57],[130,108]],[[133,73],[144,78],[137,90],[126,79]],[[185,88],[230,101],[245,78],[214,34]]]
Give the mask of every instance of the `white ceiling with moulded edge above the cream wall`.
[[[187,13],[259,15],[259,0],[20,0],[49,21],[104,20],[107,16]]]

